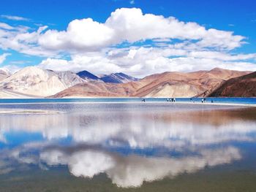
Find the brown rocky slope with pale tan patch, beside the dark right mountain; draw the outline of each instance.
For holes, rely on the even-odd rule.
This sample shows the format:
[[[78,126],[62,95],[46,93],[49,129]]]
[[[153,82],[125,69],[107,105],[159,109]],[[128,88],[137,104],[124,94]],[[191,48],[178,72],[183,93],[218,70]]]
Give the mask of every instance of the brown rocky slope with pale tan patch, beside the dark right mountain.
[[[215,68],[198,72],[165,72],[153,74],[140,80],[143,85],[133,96],[143,97],[192,97],[206,96],[230,79],[249,72]]]

